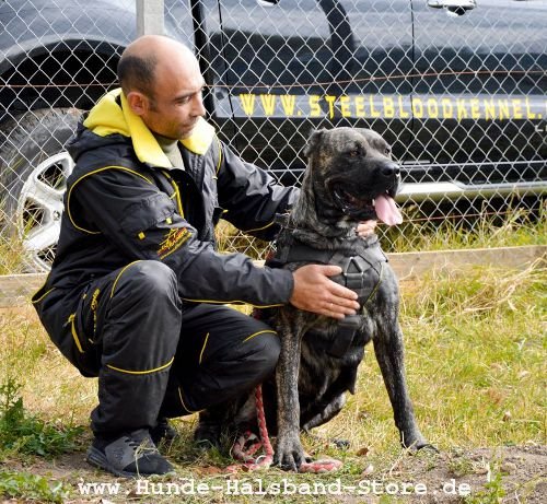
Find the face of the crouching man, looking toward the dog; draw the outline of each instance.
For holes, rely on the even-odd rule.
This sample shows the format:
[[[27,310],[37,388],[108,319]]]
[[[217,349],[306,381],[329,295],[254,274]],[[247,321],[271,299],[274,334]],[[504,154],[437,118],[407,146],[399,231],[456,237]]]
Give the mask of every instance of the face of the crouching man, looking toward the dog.
[[[205,81],[197,61],[178,57],[160,61],[154,81],[153,96],[147,96],[140,114],[142,120],[163,137],[173,140],[189,137],[206,113],[201,96]]]

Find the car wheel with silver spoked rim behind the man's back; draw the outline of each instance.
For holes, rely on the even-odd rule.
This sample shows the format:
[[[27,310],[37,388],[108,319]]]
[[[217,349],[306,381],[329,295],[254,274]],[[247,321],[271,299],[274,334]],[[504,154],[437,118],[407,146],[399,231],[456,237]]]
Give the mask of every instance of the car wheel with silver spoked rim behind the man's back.
[[[73,168],[65,145],[74,108],[30,110],[0,129],[0,236],[23,248],[23,271],[47,271],[60,232],[62,196]]]

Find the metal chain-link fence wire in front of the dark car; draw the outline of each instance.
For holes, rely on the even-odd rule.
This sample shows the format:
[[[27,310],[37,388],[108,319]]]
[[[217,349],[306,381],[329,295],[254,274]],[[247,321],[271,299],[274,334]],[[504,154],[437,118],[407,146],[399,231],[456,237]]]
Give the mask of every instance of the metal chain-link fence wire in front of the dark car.
[[[164,1],[165,34],[199,58],[208,119],[283,184],[301,180],[315,128],[384,136],[407,223],[381,227],[387,249],[411,248],[440,221],[473,230],[537,213],[546,26],[546,0]],[[73,166],[63,145],[80,113],[117,87],[135,37],[132,0],[0,2],[0,272],[47,269]],[[222,231],[225,247],[264,254]]]

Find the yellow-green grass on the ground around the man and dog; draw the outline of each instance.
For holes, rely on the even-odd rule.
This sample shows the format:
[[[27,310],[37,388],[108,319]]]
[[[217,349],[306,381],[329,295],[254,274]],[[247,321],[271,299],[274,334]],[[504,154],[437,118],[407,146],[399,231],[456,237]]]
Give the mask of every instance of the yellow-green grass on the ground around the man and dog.
[[[422,432],[442,452],[545,444],[546,280],[545,269],[507,271],[481,267],[467,274],[435,273],[403,284],[400,323],[406,337],[410,395]],[[86,425],[96,400],[95,380],[79,376],[59,355],[31,308],[4,312],[0,317],[0,385],[4,391],[11,387],[11,399],[4,400],[0,414],[15,409],[24,421],[31,419],[38,426],[47,425],[50,430],[44,434],[46,438],[66,435],[74,425]],[[313,436],[304,437],[306,449],[314,456],[342,459],[344,470],[336,477],[342,481],[362,477],[369,466],[374,474],[387,478],[401,456],[391,406],[371,353],[369,349],[360,366],[357,394],[350,397],[342,413],[315,430]],[[177,464],[179,478],[223,481],[225,477],[218,468],[232,461],[222,452],[202,452],[193,444],[195,423],[195,417],[175,422],[181,439],[168,449],[170,458]],[[14,434],[16,430],[10,424],[8,431],[0,432],[2,439]],[[334,437],[349,441],[350,447],[335,448],[327,442]],[[78,452],[89,438],[85,431],[79,439],[71,439],[77,442],[75,447],[67,444],[55,454]],[[8,467],[24,466],[33,457],[42,458],[39,449],[23,449],[24,446],[4,447],[0,452],[0,470],[2,462]],[[426,465],[435,467],[434,456],[420,457]],[[465,458],[454,457],[451,464],[455,476],[476,470],[476,462]],[[20,483],[10,484],[19,484],[24,494],[25,484],[33,480],[24,473],[18,477],[8,472],[0,474],[0,492],[12,495],[2,489],[7,481],[20,478]],[[271,470],[261,478],[264,484],[279,483],[286,474]],[[335,477],[326,478],[326,482],[336,481]],[[294,484],[314,481],[306,474],[291,474],[289,480]],[[50,480],[47,488],[56,481]],[[63,491],[72,489],[73,495],[74,481],[67,484]],[[466,502],[497,502],[502,494],[500,484],[493,479],[482,493]],[[59,499],[58,494],[44,495],[44,502]],[[184,502],[223,502],[208,499],[191,496]],[[381,502],[398,502],[382,499]],[[255,501],[256,496],[240,495],[226,502]],[[275,502],[295,501],[287,497]],[[326,495],[324,500],[314,496],[313,502],[333,501]]]

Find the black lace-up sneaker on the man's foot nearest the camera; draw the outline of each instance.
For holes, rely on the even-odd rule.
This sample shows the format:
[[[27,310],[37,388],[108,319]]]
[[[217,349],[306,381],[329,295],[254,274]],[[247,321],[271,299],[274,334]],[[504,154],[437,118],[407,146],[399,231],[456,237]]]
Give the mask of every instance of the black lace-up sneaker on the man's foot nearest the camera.
[[[95,437],[86,460],[92,466],[124,478],[174,472],[173,466],[160,455],[149,432],[143,429],[114,441]]]

